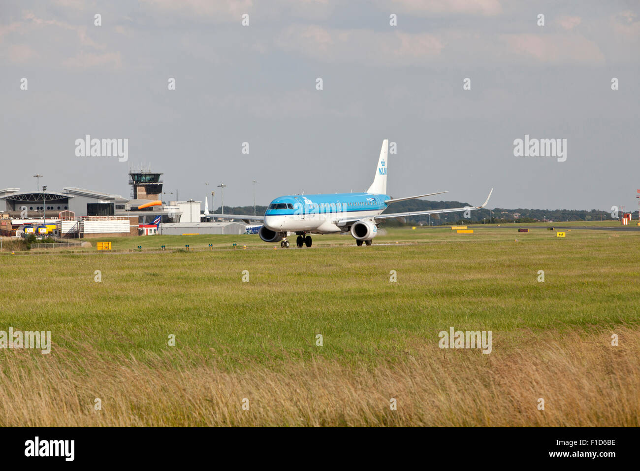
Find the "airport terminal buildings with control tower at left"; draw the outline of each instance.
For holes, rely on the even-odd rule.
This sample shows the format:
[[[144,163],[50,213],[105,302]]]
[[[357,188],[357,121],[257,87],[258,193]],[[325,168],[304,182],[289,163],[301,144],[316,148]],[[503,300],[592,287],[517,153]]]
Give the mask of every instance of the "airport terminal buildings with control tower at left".
[[[72,186],[60,192],[5,188],[0,190],[0,235],[37,233],[34,227],[74,238],[245,232],[244,224],[237,222],[201,222],[201,201],[164,204],[162,175],[150,169],[130,170],[130,198]]]

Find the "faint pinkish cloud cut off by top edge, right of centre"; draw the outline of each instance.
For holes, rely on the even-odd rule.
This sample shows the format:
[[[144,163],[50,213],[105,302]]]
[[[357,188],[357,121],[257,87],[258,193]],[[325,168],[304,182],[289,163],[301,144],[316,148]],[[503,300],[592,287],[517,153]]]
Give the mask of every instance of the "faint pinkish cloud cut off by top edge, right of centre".
[[[392,6],[389,6],[387,2],[384,5],[385,8],[396,6],[400,12],[416,15],[462,14],[493,16],[502,13],[502,6],[499,0],[392,0]]]

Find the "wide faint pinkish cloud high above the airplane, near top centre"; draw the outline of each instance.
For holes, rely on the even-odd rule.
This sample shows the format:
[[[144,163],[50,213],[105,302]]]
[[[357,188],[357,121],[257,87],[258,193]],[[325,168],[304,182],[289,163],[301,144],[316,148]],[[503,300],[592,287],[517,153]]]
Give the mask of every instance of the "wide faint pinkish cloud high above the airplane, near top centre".
[[[440,39],[430,33],[327,29],[316,25],[290,26],[276,38],[275,45],[321,62],[367,65],[423,63],[444,49]]]

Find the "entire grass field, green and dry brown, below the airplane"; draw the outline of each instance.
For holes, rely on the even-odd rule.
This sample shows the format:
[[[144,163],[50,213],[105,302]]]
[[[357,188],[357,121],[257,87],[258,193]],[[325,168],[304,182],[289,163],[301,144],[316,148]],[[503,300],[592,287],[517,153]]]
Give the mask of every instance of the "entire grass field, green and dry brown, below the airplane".
[[[4,252],[0,329],[52,350],[0,350],[0,425],[639,426],[640,233],[469,227]]]

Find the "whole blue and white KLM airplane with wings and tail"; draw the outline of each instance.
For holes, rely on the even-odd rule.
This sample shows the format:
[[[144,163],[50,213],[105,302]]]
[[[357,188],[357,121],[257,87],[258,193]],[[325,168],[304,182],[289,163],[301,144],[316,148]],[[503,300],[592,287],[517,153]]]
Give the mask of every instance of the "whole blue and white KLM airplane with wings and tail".
[[[305,245],[311,247],[312,234],[337,233],[351,233],[356,240],[356,245],[360,247],[363,243],[372,244],[373,238],[378,235],[378,224],[385,219],[397,218],[404,222],[404,218],[409,216],[479,210],[488,204],[493,193],[492,188],[481,206],[382,214],[388,205],[394,202],[447,193],[435,192],[404,198],[390,197],[387,195],[387,154],[388,139],[385,139],[380,149],[373,183],[364,193],[285,195],[271,201],[264,216],[234,214],[212,214],[212,216],[241,219],[246,224],[251,220],[262,221],[260,238],[269,244],[280,242],[280,247],[284,248],[289,247],[290,233],[298,236],[296,238],[298,247]]]

